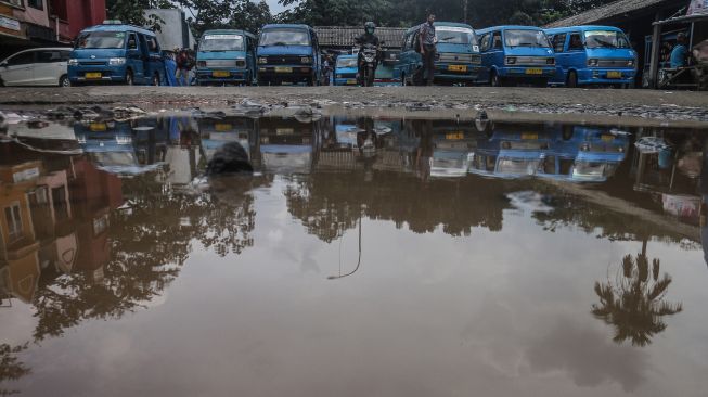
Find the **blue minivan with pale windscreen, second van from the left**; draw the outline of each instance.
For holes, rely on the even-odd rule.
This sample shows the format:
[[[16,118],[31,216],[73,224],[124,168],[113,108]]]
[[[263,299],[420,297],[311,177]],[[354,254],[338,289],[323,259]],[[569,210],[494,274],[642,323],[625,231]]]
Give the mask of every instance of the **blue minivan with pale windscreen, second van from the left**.
[[[256,79],[256,36],[245,30],[206,30],[196,52],[199,86],[236,84]]]

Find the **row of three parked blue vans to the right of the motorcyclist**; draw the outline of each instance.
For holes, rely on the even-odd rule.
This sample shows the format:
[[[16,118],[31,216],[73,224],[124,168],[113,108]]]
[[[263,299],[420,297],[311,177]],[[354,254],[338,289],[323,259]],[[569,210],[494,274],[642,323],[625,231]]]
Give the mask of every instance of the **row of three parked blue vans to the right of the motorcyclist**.
[[[632,87],[636,77],[636,53],[616,27],[495,26],[475,31],[469,25],[436,23],[436,82]],[[397,65],[403,85],[420,78],[417,35],[412,27],[403,39]]]

